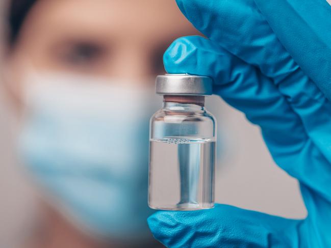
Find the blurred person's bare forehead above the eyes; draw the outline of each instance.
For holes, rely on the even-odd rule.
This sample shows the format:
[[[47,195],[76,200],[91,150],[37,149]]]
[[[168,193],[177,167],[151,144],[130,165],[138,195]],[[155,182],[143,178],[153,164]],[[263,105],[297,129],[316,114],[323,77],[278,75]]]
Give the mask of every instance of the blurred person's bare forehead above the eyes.
[[[39,0],[24,26],[33,26],[36,36],[89,33],[137,42],[196,33],[169,0]]]

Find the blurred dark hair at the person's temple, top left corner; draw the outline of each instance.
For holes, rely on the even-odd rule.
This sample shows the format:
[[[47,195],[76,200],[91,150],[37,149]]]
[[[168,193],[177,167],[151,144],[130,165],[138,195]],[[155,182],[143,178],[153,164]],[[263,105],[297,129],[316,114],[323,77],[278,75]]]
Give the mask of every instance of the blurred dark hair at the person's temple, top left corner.
[[[11,45],[15,44],[22,24],[26,19],[29,11],[37,0],[11,0],[9,3],[8,13],[8,41]]]

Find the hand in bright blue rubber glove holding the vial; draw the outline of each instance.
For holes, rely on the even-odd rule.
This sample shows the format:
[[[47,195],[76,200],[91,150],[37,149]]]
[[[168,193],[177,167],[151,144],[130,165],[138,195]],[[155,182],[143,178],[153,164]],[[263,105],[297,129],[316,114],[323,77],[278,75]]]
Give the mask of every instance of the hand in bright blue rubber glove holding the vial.
[[[294,6],[298,1],[291,2]],[[314,57],[322,54],[319,47],[311,51],[313,45],[299,46],[303,33],[292,34],[296,47],[281,27],[275,33],[270,27],[276,20],[284,24],[279,19],[285,16],[304,23],[298,11],[309,2],[273,9],[276,1],[177,0],[185,16],[209,39],[193,36],[174,41],[164,54],[167,72],[211,76],[214,93],[261,127],[275,162],[299,180],[309,214],[294,220],[219,204],[210,210],[159,211],[148,224],[166,246],[331,247],[331,103],[317,87],[327,82],[323,74],[330,75],[331,57],[327,70],[322,57]],[[329,22],[331,7],[326,2],[311,3],[314,13],[315,5],[329,8],[319,16],[324,18],[321,22]],[[279,14],[285,10],[286,14]],[[266,18],[272,20],[270,25]],[[305,24],[309,33],[315,33],[316,26]],[[316,34],[322,41],[331,33]],[[279,40],[287,40],[287,47]],[[298,61],[302,69],[308,68],[305,72],[293,59],[300,50]]]

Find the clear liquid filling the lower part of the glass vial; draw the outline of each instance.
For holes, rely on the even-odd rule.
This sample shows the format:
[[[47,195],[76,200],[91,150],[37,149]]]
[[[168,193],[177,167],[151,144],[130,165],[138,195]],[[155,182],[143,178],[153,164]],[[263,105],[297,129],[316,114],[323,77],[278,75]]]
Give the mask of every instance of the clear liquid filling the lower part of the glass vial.
[[[214,140],[151,139],[149,163],[151,208],[198,210],[214,206]]]

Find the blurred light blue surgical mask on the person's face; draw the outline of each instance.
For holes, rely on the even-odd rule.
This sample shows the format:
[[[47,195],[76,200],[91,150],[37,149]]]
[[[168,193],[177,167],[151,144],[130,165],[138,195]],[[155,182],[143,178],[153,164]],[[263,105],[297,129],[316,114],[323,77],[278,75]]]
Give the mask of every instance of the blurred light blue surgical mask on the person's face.
[[[153,90],[72,75],[28,78],[19,148],[45,199],[89,233],[149,236],[148,122],[160,102]]]

